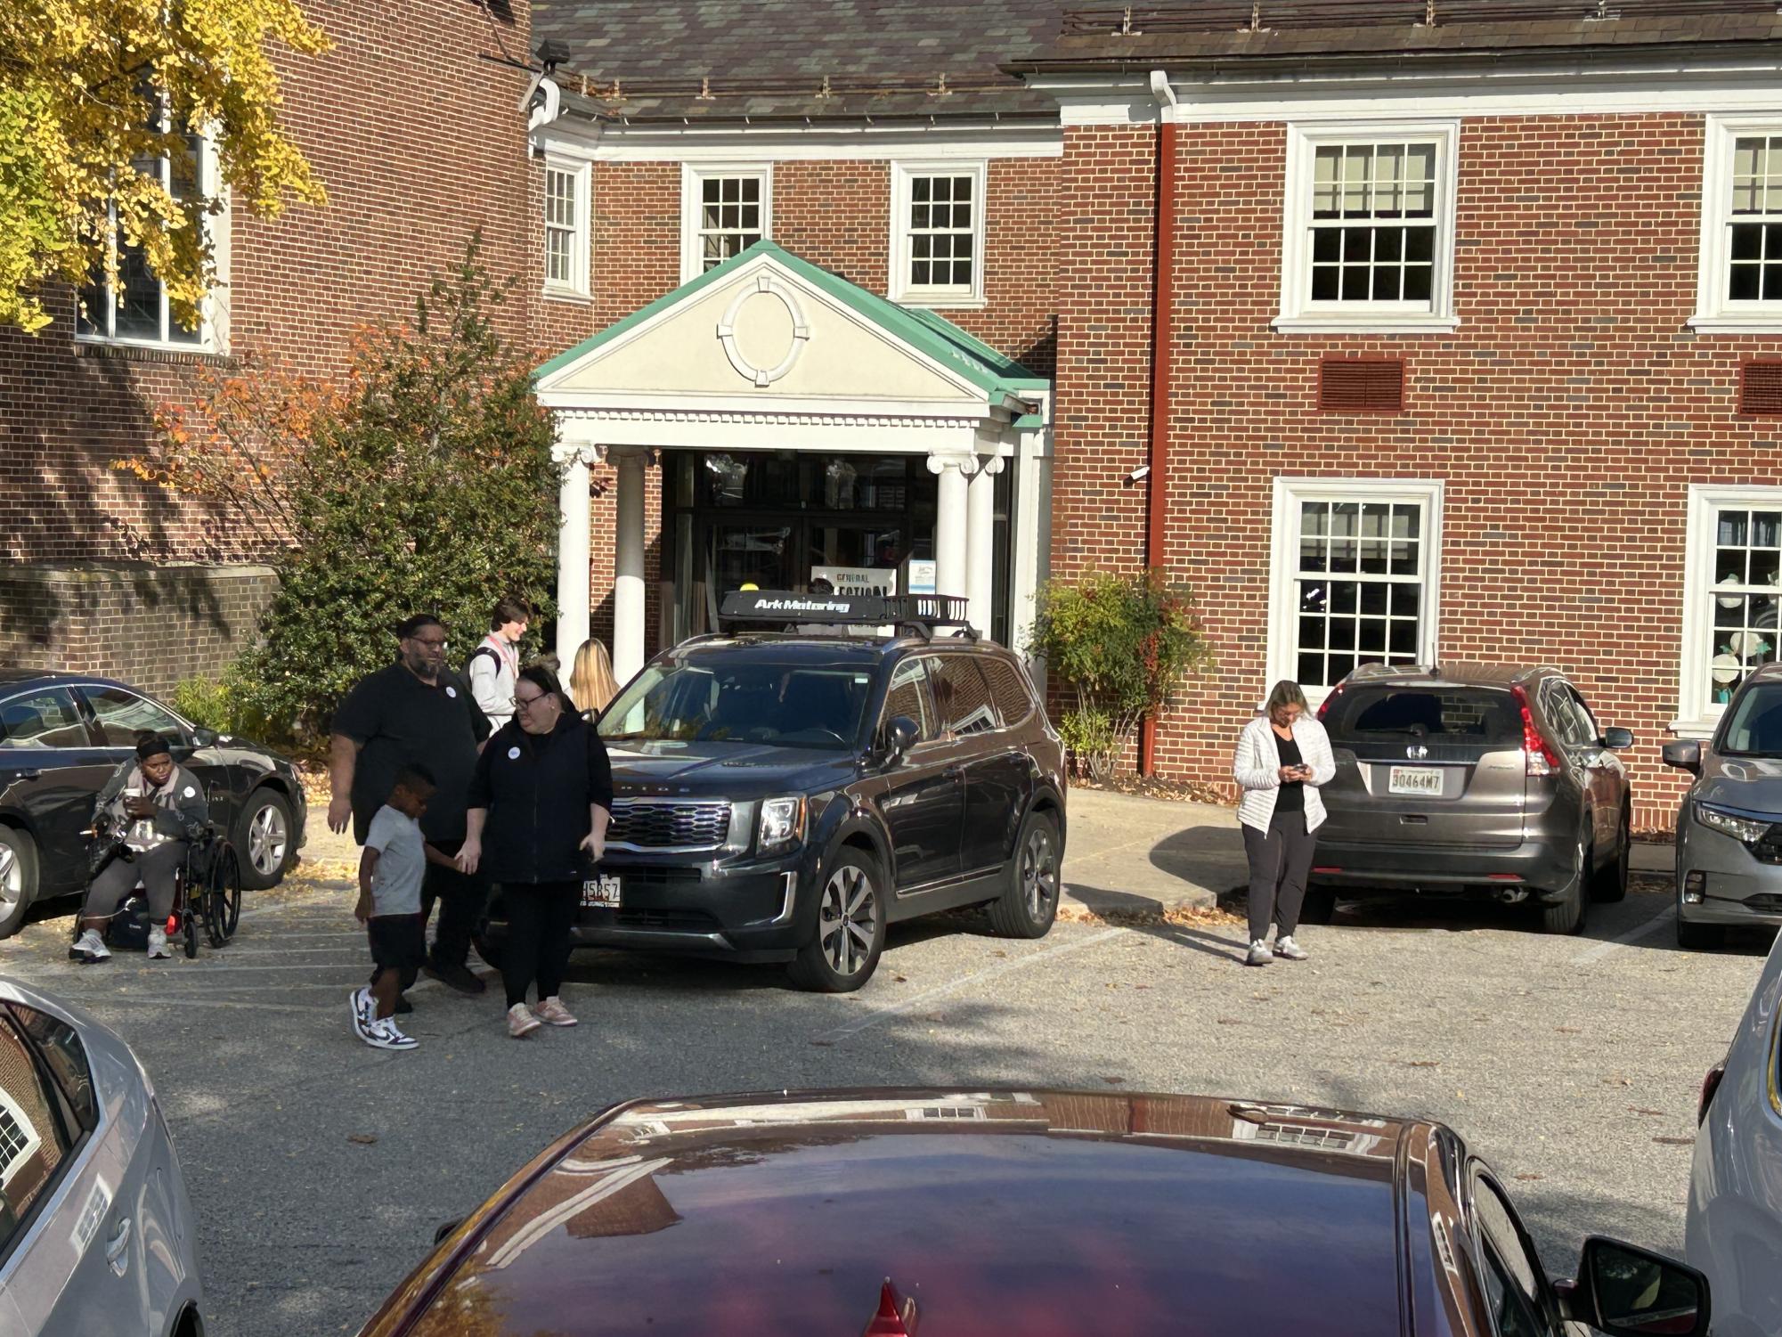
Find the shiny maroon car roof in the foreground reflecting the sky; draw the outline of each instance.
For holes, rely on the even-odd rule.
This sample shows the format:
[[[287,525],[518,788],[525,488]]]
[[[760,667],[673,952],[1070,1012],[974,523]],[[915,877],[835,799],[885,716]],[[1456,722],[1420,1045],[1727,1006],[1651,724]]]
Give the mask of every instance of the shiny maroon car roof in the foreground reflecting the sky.
[[[365,1332],[857,1337],[889,1278],[921,1337],[1303,1337],[1333,1307],[1342,1332],[1399,1333],[1399,1153],[1429,1134],[1146,1095],[634,1103],[535,1162]]]

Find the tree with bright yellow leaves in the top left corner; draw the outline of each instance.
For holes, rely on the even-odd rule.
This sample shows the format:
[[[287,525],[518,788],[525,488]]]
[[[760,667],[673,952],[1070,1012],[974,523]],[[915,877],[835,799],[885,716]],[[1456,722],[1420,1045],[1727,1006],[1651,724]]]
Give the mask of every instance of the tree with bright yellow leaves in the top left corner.
[[[0,324],[48,324],[48,283],[116,292],[130,253],[196,326],[225,193],[258,216],[326,203],[278,125],[274,43],[328,50],[298,0],[0,0]]]

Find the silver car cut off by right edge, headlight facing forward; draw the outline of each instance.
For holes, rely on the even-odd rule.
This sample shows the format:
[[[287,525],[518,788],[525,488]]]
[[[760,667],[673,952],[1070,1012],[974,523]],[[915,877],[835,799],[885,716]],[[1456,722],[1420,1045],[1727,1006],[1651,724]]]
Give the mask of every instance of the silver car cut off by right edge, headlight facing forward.
[[[1759,667],[1707,743],[1664,743],[1695,783],[1677,811],[1677,943],[1782,925],[1782,663]]]

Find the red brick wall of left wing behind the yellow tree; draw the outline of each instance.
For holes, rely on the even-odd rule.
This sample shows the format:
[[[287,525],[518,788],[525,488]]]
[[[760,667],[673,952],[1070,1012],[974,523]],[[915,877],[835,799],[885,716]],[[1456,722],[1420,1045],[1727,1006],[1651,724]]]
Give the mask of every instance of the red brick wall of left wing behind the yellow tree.
[[[267,221],[235,214],[230,285],[219,294],[232,351],[337,373],[355,326],[412,314],[417,292],[463,255],[476,228],[488,269],[522,276],[499,319],[517,339],[547,342],[538,187],[526,176],[526,125],[515,112],[526,75],[499,62],[526,57],[524,0],[312,0],[305,9],[335,48],[276,64],[285,125],[330,203]],[[50,307],[55,323],[37,337],[0,330],[0,572],[30,583],[73,563],[228,563],[264,551],[266,535],[244,533],[228,513],[112,467],[151,440],[157,403],[189,403],[200,365],[226,364],[80,346],[73,294],[53,294]],[[128,663],[82,667],[121,672]]]

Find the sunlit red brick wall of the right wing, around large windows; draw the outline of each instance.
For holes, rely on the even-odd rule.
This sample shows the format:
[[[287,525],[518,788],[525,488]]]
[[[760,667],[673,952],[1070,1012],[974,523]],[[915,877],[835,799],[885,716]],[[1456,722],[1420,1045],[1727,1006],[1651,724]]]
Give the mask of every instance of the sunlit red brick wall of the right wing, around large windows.
[[[1133,346],[1133,321],[1108,316],[1137,307],[1137,285],[1096,275],[1094,246],[1075,241],[1071,196],[1099,178],[1108,198],[1080,216],[1117,235],[1121,223],[1142,230],[1144,134],[1067,139],[1066,517],[1142,515],[1116,503],[1116,471],[1142,440],[1142,396],[1130,387],[1148,355]],[[1680,784],[1657,751],[1677,713],[1688,485],[1782,481],[1773,421],[1734,414],[1741,358],[1775,357],[1782,340],[1684,326],[1695,310],[1700,155],[1695,116],[1467,121],[1459,330],[1292,337],[1269,328],[1285,128],[1183,128],[1167,560],[1199,590],[1221,667],[1162,729],[1165,774],[1226,779],[1231,738],[1267,690],[1272,480],[1440,478],[1442,656],[1566,668],[1604,722],[1639,738],[1629,754],[1638,818],[1670,820]],[[1085,357],[1091,321],[1114,321],[1108,365]],[[1313,412],[1317,364],[1333,353],[1404,357],[1406,412]],[[1096,463],[1085,476],[1087,460]],[[1139,560],[1137,524],[1099,526],[1094,540],[1076,537],[1083,528],[1055,526],[1062,569]]]

